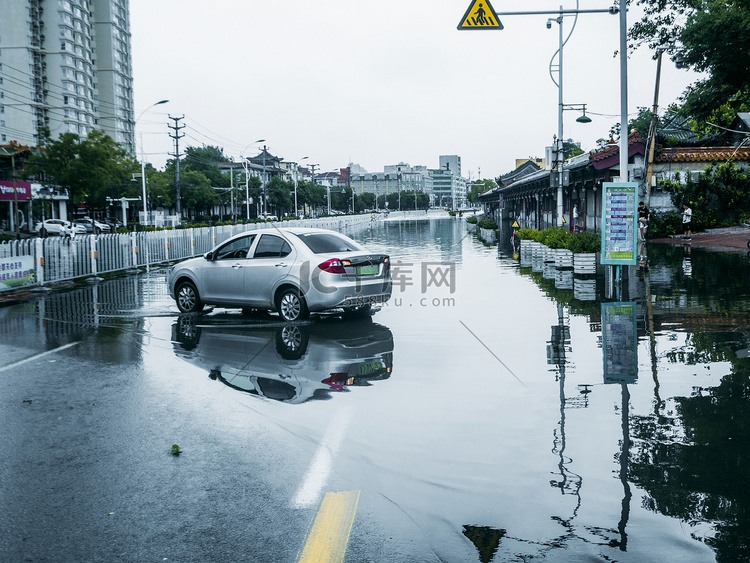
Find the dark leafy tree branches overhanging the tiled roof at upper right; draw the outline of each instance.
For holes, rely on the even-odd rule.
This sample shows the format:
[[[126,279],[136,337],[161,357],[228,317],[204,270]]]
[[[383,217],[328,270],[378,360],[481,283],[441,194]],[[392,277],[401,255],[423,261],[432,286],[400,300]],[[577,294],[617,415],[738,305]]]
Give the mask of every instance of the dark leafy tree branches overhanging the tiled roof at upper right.
[[[681,66],[705,73],[683,93],[681,114],[727,126],[750,108],[750,2],[631,0],[644,10],[629,37],[634,47],[667,49]],[[675,49],[675,44],[679,48]]]

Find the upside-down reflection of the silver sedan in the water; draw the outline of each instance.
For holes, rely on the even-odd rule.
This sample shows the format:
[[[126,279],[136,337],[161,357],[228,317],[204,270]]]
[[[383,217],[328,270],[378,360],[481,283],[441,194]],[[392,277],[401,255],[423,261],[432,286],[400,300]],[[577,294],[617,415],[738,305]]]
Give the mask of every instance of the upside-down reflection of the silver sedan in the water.
[[[393,369],[393,334],[370,317],[280,324],[183,315],[172,333],[175,354],[211,379],[285,403],[330,399]]]

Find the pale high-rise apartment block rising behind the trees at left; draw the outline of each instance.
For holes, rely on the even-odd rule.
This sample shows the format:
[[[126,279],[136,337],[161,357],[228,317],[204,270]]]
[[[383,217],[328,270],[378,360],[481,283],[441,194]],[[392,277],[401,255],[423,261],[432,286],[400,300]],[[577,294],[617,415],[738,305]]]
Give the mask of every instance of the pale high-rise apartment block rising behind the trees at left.
[[[0,144],[100,129],[134,152],[129,0],[2,0]]]

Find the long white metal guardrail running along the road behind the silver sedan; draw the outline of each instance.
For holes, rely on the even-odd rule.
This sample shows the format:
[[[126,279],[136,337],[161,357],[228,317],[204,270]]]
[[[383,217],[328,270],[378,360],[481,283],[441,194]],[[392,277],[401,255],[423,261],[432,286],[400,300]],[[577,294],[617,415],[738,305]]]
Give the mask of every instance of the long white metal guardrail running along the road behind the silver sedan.
[[[340,218],[284,221],[284,227],[316,227],[351,231],[365,227],[370,215]],[[23,287],[44,286],[82,277],[166,264],[199,256],[229,237],[258,229],[278,227],[279,223],[248,223],[197,229],[141,231],[138,233],[78,235],[73,238],[31,238],[0,243],[0,275],[5,263],[17,257],[33,258],[35,283]],[[28,260],[28,258],[26,258]],[[18,286],[0,283],[0,292]]]

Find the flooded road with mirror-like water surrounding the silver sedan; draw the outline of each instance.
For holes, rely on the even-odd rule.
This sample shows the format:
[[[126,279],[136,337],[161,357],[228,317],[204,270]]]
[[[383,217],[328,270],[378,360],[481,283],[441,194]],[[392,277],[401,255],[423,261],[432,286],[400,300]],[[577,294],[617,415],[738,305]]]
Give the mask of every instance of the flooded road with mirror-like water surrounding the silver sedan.
[[[165,270],[0,308],[0,560],[750,558],[744,254],[615,300],[459,219],[351,236],[372,319],[180,316]]]

